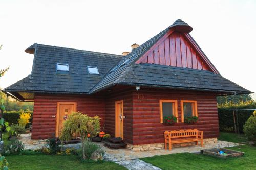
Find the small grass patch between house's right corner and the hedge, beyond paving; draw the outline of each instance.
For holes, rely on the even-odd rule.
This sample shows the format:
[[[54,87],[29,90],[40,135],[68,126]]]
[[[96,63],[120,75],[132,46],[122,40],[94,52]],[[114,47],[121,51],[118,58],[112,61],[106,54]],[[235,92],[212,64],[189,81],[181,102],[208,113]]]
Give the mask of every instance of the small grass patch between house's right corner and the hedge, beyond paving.
[[[247,142],[247,138],[244,134],[236,134],[236,133],[227,133],[227,132],[220,132],[220,136],[218,140],[234,142],[234,143],[244,143]]]

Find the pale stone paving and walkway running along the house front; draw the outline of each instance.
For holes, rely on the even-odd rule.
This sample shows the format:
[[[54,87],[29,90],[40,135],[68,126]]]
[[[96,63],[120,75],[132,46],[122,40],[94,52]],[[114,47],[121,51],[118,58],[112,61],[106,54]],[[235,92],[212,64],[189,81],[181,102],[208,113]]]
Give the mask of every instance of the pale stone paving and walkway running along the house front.
[[[44,140],[31,140],[29,134],[22,134],[20,141],[25,144],[25,149],[39,149],[45,145]],[[97,143],[105,151],[104,160],[115,162],[119,165],[122,165],[130,170],[158,170],[158,167],[155,167],[149,163],[146,163],[139,158],[152,157],[155,155],[167,155],[175,153],[198,153],[201,149],[210,149],[210,148],[224,148],[224,147],[234,147],[242,145],[239,143],[232,143],[226,141],[218,141],[217,143],[206,143],[203,147],[200,145],[194,145],[190,147],[179,147],[172,148],[172,151],[169,150],[150,150],[150,151],[132,151],[129,149],[109,149],[103,146],[103,143]],[[74,147],[79,148],[80,143],[64,145],[65,148]]]

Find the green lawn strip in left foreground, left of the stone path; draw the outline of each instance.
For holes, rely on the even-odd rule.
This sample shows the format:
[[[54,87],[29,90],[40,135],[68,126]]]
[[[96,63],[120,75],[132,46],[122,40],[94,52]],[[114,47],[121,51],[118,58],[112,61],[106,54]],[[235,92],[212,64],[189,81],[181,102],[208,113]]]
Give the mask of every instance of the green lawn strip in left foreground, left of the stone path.
[[[81,162],[76,156],[61,155],[15,155],[6,156],[11,170],[78,170],[104,169],[121,170],[124,167],[107,161]]]

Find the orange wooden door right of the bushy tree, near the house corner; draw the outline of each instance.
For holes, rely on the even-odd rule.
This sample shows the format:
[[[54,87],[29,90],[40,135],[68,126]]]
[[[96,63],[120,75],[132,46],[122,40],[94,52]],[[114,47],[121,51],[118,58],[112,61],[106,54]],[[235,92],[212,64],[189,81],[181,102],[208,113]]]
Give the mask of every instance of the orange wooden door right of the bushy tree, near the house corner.
[[[116,101],[116,137],[123,139],[123,101]]]

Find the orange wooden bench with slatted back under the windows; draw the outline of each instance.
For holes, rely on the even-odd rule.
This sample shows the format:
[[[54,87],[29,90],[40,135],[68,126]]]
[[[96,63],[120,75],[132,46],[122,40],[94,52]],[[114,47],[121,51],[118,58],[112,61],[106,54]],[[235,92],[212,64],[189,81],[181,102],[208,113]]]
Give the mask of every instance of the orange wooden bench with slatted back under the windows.
[[[179,131],[165,131],[164,132],[164,148],[167,150],[167,144],[169,144],[169,150],[172,149],[172,144],[175,143],[187,143],[201,141],[203,146],[203,131],[197,129],[187,129]]]

